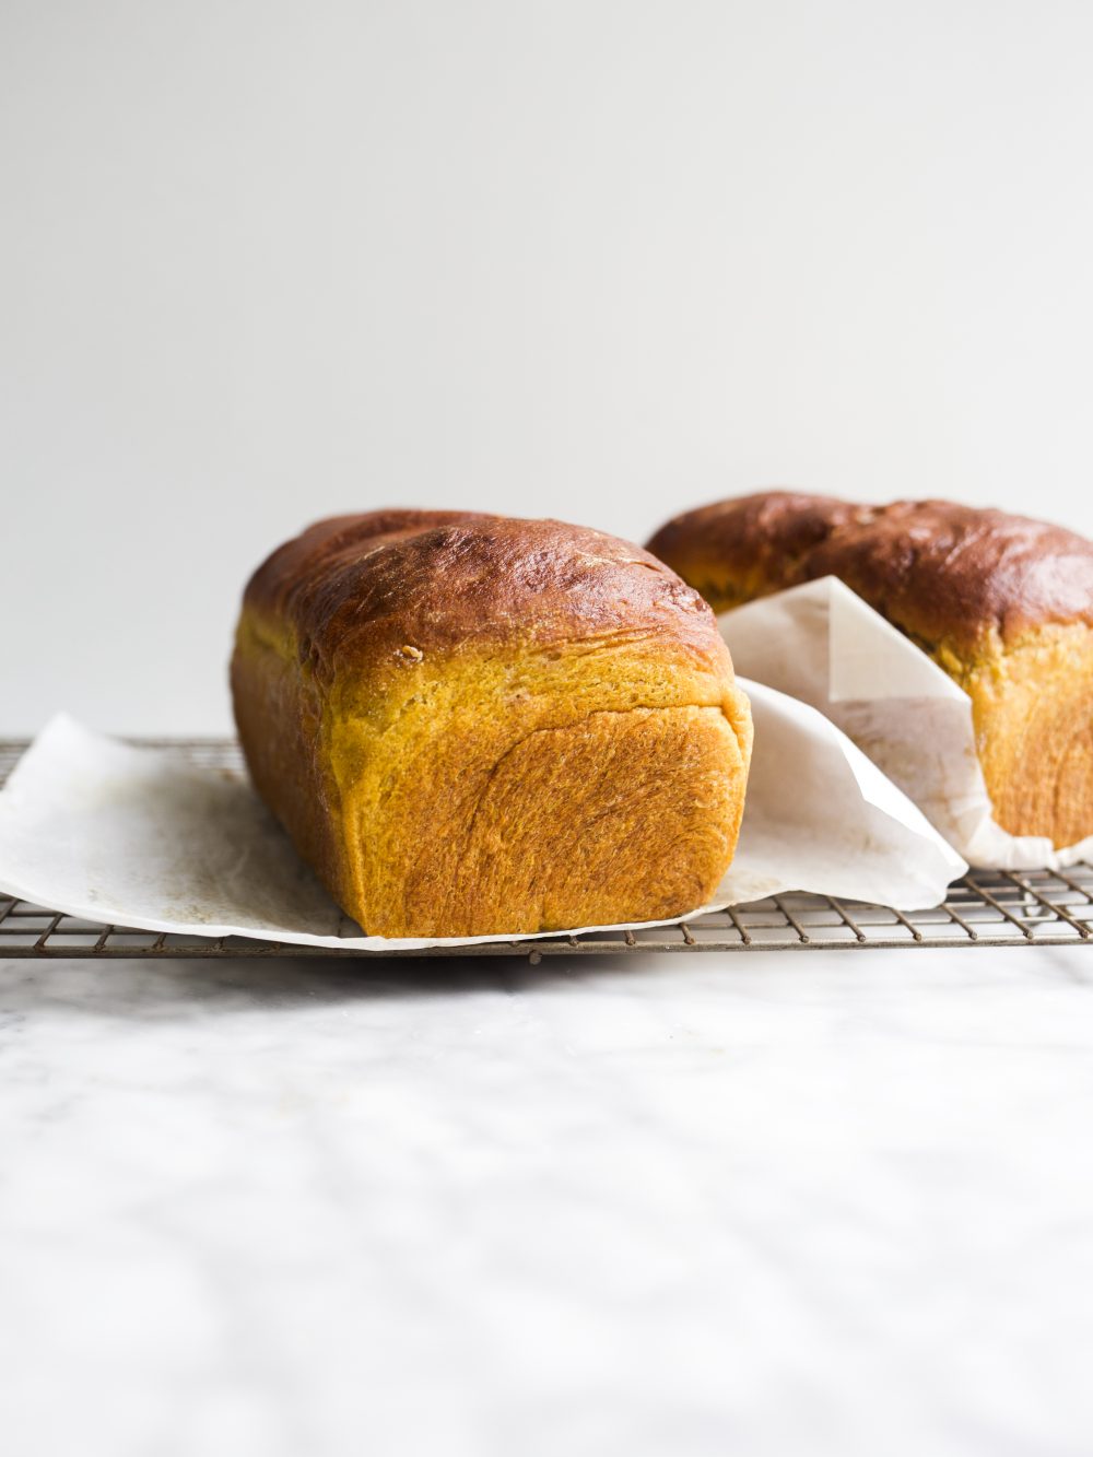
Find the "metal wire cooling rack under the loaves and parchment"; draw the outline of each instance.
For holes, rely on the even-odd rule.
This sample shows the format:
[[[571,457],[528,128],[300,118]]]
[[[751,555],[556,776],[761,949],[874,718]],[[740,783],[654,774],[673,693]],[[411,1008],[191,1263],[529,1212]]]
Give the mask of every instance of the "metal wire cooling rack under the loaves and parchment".
[[[239,746],[230,739],[134,739],[133,743],[217,769],[240,769]],[[0,784],[25,740],[0,740]],[[124,925],[105,925],[63,915],[48,906],[13,900],[0,892],[0,959],[147,957],[147,956],[589,956],[630,951],[809,951],[895,946],[1059,946],[1093,941],[1093,865],[1065,871],[973,871],[957,880],[944,905],[928,911],[834,896],[780,895],[752,905],[694,916],[682,925],[649,931],[586,931],[538,941],[488,941],[472,949],[428,951],[359,951],[338,947],[289,946],[245,937],[157,935]]]

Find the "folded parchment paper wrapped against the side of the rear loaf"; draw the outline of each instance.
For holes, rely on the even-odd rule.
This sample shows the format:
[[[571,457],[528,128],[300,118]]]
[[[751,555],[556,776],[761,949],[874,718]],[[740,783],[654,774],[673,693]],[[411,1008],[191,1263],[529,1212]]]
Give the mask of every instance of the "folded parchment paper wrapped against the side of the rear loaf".
[[[718,618],[736,670],[812,704],[893,779],[971,864],[1061,868],[1093,855],[995,823],[972,701],[947,673],[835,577]]]

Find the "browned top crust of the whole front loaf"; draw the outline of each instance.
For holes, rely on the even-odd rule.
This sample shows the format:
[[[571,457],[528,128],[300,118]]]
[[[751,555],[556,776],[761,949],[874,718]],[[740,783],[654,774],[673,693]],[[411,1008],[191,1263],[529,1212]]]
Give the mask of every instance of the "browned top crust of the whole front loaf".
[[[351,656],[657,635],[723,661],[710,608],[640,546],[583,526],[385,510],[318,522],[254,574],[245,610],[287,622],[324,676]]]

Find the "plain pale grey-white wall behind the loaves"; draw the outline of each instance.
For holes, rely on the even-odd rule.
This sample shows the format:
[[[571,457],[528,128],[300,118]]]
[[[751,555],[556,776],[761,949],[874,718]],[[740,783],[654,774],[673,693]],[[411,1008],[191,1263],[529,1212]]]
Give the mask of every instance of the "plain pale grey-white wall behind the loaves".
[[[1087,3],[3,0],[0,733],[229,726],[388,503],[1093,530]]]

